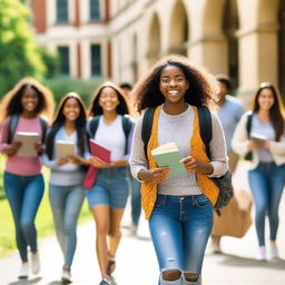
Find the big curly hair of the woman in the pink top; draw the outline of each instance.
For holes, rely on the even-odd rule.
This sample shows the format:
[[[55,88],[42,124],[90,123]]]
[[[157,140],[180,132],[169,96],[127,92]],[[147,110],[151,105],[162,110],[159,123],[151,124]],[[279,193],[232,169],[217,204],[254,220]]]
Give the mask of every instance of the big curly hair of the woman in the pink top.
[[[39,102],[35,112],[46,116],[47,119],[51,118],[55,107],[52,94],[36,79],[27,77],[20,80],[7,95],[4,95],[1,101],[0,121],[11,115],[20,115],[22,112],[23,107],[21,105],[21,98],[24,90],[28,88],[33,89],[39,97]]]

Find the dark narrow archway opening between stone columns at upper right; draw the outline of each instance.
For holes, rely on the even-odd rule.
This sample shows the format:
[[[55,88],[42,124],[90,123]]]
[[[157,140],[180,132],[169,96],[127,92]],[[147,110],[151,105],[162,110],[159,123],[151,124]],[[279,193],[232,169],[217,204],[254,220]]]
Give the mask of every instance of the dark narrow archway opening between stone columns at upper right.
[[[233,92],[238,87],[238,30],[237,1],[226,0],[224,8],[223,30],[227,40],[228,76],[232,79]]]

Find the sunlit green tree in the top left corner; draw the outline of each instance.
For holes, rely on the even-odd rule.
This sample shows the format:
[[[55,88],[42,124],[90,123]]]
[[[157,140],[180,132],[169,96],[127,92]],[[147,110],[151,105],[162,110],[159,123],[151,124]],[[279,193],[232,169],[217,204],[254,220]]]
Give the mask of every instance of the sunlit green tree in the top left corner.
[[[46,68],[20,0],[0,0],[0,96],[22,77],[42,79]]]

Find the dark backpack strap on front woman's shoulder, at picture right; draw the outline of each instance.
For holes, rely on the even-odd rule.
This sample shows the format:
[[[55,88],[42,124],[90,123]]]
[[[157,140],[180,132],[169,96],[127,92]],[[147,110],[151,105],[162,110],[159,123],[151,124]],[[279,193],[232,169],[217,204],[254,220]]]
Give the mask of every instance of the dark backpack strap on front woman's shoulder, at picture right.
[[[210,158],[209,142],[212,140],[212,116],[208,107],[198,106],[199,131],[202,140],[206,147],[208,158]]]

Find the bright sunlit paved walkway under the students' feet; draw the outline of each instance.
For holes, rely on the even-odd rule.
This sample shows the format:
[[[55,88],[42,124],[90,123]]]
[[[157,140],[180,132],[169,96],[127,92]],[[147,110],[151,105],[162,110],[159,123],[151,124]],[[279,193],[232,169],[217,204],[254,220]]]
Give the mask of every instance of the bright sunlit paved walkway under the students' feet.
[[[234,185],[247,188],[246,164],[238,167]],[[285,196],[285,195],[284,195]],[[281,227],[277,245],[281,259],[257,262],[255,257],[256,237],[253,227],[242,239],[224,237],[224,254],[207,253],[204,263],[204,285],[284,285],[285,284],[285,197],[281,206]],[[124,216],[124,225],[129,223],[129,206]],[[268,228],[268,226],[267,226]],[[122,240],[117,254],[116,281],[118,285],[156,285],[158,266],[148,227],[141,218],[138,238],[128,235],[122,227]],[[268,235],[267,235],[268,236]],[[59,285],[62,256],[55,236],[40,240],[42,271],[40,276],[30,276],[29,281],[17,279],[19,269],[18,253],[0,259],[0,285]],[[78,228],[78,248],[72,266],[75,285],[97,285],[100,273],[95,255],[95,226],[87,223]]]

